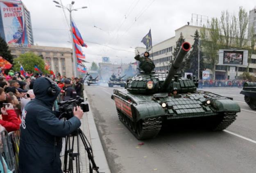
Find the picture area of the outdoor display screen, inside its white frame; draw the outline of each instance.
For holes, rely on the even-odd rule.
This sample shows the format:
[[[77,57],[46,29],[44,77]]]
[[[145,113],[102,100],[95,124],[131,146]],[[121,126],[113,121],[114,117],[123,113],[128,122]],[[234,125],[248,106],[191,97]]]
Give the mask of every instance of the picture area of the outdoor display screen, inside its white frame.
[[[242,51],[224,51],[223,64],[242,65]]]

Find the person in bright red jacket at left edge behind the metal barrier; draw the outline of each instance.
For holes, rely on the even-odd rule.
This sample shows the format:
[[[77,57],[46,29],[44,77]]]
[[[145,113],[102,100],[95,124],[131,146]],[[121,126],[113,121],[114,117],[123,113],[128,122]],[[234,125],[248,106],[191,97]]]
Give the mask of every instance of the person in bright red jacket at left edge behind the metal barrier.
[[[20,120],[17,118],[14,106],[11,103],[2,107],[1,112],[2,120],[0,120],[0,124],[4,126],[8,132],[20,129]]]

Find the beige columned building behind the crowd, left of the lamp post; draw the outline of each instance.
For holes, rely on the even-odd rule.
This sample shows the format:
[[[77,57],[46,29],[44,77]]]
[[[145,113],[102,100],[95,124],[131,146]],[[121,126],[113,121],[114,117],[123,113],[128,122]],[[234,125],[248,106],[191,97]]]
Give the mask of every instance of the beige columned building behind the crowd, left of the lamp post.
[[[66,77],[73,76],[72,49],[70,48],[35,45],[20,47],[16,44],[9,44],[8,46],[14,58],[26,52],[33,52],[41,56],[55,74],[60,73]]]

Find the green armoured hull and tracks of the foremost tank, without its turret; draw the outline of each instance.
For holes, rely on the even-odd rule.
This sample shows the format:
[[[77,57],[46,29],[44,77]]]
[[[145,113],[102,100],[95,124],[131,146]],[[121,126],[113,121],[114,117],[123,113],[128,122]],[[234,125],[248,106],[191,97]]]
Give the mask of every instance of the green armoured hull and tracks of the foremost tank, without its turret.
[[[212,130],[226,129],[240,107],[229,98],[205,91],[168,96],[168,93],[141,95],[126,89],[114,89],[111,96],[116,103],[118,117],[139,140],[154,138],[164,121],[209,117]],[[210,104],[207,104],[210,100]],[[163,107],[162,103],[166,106]]]

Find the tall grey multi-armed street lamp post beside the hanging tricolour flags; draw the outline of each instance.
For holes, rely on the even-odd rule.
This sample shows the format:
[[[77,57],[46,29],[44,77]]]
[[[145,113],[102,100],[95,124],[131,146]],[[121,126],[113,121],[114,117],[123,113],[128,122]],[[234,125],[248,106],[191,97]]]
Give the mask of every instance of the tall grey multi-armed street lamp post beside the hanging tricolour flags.
[[[75,43],[73,40],[73,33],[72,33],[72,16],[71,16],[71,12],[72,11],[77,11],[78,9],[86,9],[87,7],[82,7],[82,8],[77,8],[77,9],[73,9],[73,4],[75,4],[75,1],[72,1],[71,4],[69,4],[69,6],[65,7],[63,5],[61,5],[59,2],[57,1],[53,1],[54,3],[58,4],[55,5],[56,7],[62,8],[62,9],[66,9],[69,12],[69,18],[70,18],[70,34],[71,34],[71,43],[72,43],[72,57],[73,57],[73,68],[74,68],[74,76],[77,77],[77,61],[76,61],[76,55],[75,55]]]

